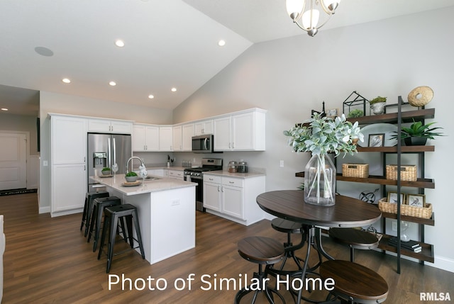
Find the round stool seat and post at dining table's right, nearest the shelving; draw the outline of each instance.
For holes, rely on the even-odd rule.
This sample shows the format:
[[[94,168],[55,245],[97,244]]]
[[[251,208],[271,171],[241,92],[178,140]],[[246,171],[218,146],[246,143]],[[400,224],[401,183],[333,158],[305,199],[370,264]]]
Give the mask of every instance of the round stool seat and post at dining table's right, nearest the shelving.
[[[370,232],[355,228],[331,228],[329,236],[338,243],[347,244],[350,247],[350,261],[355,260],[355,249],[374,249],[378,247],[380,240]]]

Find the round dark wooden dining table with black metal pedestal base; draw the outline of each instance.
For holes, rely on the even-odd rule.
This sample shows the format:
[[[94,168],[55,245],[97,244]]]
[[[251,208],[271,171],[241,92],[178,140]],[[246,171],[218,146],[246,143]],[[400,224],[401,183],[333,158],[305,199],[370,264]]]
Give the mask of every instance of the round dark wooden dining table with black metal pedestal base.
[[[300,244],[286,248],[286,250],[295,250],[302,248],[304,243],[308,244],[304,266],[302,270],[295,271],[301,281],[306,277],[306,272],[314,271],[321,264],[321,255],[327,259],[333,259],[321,244],[321,227],[363,227],[375,223],[382,217],[382,212],[377,206],[348,196],[336,195],[336,204],[333,206],[305,203],[304,191],[301,190],[265,192],[257,197],[257,203],[265,212],[278,218],[301,223],[304,227],[306,233],[301,234]],[[309,269],[311,247],[314,247],[319,254],[319,264]],[[279,271],[276,271],[275,275],[279,275]],[[301,303],[302,291],[303,288],[300,288],[297,304]]]

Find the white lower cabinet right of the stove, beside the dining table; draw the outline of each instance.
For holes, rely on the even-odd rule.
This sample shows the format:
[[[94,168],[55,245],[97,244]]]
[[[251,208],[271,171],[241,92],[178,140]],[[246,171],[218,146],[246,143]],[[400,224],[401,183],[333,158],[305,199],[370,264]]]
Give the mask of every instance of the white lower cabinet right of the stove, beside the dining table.
[[[255,198],[265,192],[265,176],[204,174],[204,208],[228,220],[250,225],[264,218]]]

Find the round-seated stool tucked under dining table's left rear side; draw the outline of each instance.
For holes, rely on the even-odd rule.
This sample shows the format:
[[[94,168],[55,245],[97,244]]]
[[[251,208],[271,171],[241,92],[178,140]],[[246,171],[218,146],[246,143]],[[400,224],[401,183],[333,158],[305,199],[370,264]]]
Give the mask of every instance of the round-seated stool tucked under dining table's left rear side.
[[[284,220],[283,218],[275,218],[271,221],[271,227],[274,230],[277,230],[279,232],[284,232],[287,233],[287,242],[284,243],[285,247],[285,257],[284,261],[282,261],[282,264],[280,266],[279,270],[284,269],[284,265],[287,262],[288,258],[292,258],[295,261],[295,264],[297,264],[297,267],[299,270],[302,269],[301,264],[299,264],[299,261],[303,261],[303,259],[297,257],[294,252],[297,249],[300,249],[301,247],[294,247],[292,243],[292,233],[294,234],[301,234],[304,231],[303,225],[301,223],[293,222],[292,220]]]

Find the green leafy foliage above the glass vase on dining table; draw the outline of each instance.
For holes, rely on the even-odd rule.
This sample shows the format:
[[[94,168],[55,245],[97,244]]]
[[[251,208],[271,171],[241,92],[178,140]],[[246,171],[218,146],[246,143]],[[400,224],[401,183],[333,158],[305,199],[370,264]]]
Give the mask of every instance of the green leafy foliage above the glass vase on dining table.
[[[341,152],[344,156],[347,153],[353,155],[353,152],[358,152],[353,139],[364,141],[358,122],[350,123],[344,114],[333,120],[316,113],[303,125],[285,130],[284,135],[289,137],[288,144],[294,152],[312,152],[319,155],[333,152],[336,157]]]

